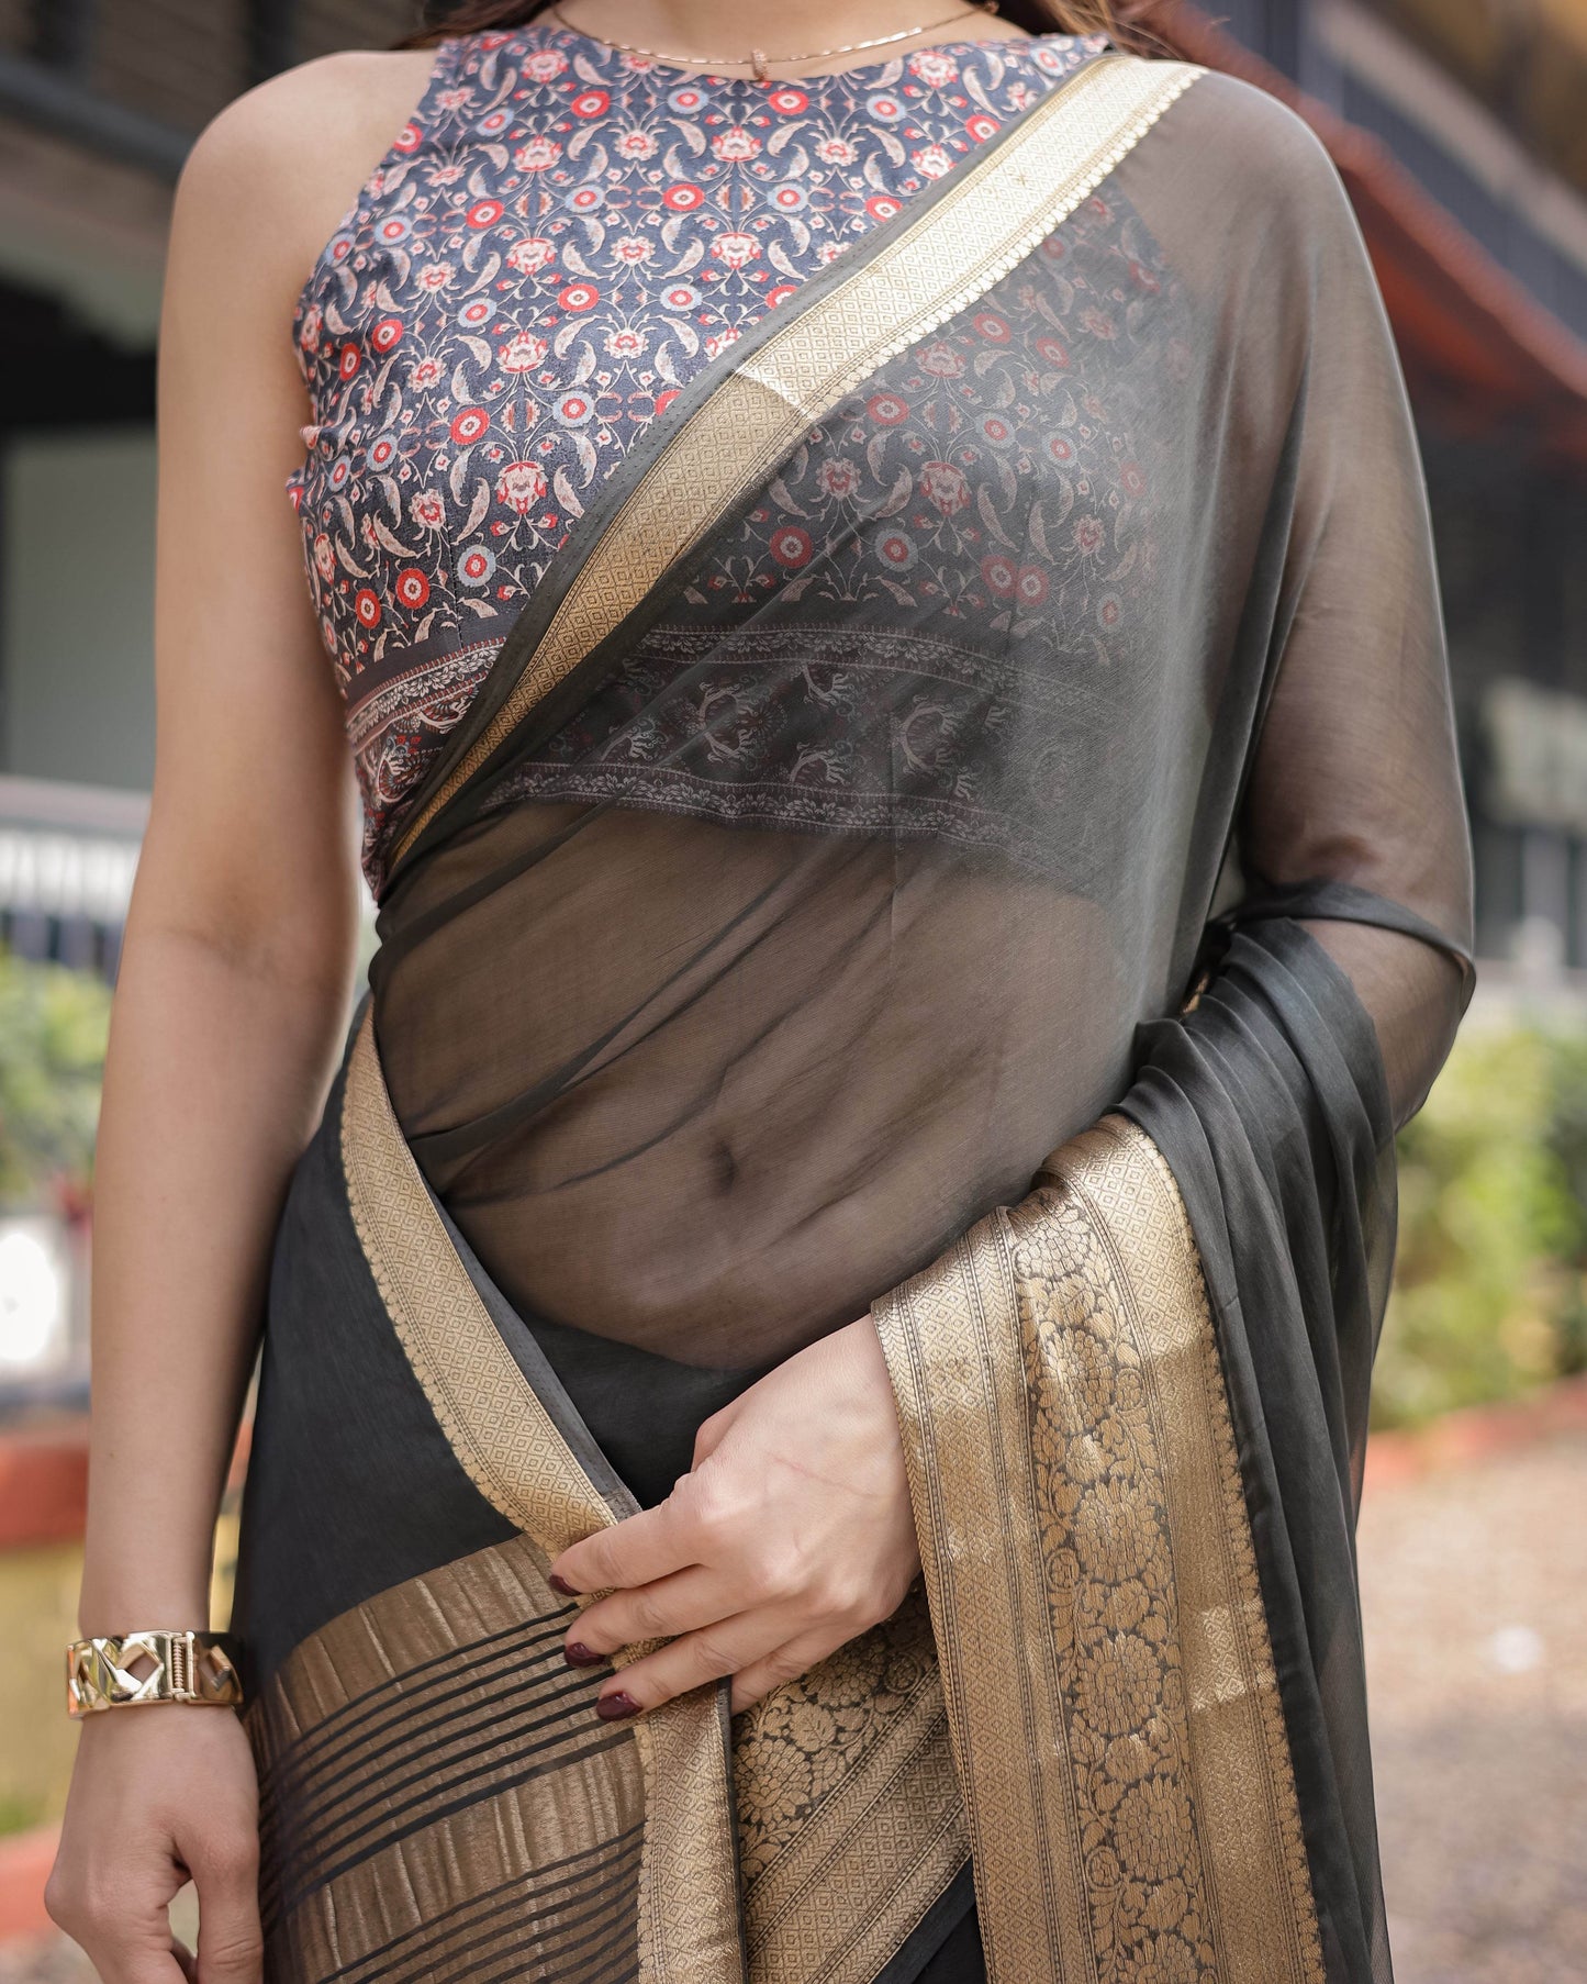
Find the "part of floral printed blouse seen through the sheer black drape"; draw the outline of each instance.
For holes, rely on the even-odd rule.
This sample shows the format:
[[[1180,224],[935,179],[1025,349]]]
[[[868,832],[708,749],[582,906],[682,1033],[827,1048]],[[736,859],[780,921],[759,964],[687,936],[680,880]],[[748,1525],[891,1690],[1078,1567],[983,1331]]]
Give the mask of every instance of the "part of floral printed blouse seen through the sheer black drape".
[[[885,829],[1085,889],[1105,849],[1053,833],[1045,800],[1095,776],[1119,698],[1155,692],[1157,393],[1186,347],[1176,278],[1117,190],[1038,268],[811,429],[496,802]]]

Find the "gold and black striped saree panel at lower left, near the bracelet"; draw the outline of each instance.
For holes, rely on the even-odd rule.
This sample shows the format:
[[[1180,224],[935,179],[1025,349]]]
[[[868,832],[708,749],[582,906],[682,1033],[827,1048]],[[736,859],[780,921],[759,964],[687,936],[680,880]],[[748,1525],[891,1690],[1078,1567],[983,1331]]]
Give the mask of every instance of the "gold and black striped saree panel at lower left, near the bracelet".
[[[272,1976],[639,1976],[645,1774],[528,1542],[343,1613],[252,1714]]]

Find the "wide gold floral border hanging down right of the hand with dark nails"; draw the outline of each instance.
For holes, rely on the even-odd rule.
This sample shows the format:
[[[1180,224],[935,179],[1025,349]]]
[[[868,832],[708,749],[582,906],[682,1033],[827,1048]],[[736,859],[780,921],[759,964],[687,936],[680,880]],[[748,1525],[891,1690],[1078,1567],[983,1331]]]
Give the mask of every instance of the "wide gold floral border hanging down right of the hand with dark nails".
[[[875,1309],[990,1984],[1323,1984],[1200,1262],[1119,1117]]]

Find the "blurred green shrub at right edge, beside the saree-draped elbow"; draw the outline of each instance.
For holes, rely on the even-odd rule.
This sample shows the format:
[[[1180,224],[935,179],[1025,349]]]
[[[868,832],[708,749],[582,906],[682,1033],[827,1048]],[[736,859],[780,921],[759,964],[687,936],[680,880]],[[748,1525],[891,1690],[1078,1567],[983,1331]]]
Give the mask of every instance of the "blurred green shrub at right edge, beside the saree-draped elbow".
[[[1587,1032],[1474,1024],[1401,1137],[1377,1425],[1587,1367]]]

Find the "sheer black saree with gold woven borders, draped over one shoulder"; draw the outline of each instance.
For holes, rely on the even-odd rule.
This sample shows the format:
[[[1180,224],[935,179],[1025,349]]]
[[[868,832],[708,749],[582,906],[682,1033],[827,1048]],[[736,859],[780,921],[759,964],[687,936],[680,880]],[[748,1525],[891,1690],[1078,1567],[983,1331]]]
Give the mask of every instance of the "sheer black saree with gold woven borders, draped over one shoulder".
[[[680,393],[397,827],[244,1516],[272,1976],[1387,1984],[1353,1520],[1466,927],[1339,185],[1101,54]],[[597,1722],[548,1561],[867,1309],[920,1585]]]

